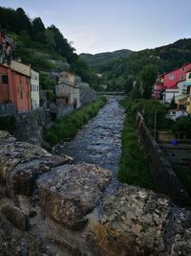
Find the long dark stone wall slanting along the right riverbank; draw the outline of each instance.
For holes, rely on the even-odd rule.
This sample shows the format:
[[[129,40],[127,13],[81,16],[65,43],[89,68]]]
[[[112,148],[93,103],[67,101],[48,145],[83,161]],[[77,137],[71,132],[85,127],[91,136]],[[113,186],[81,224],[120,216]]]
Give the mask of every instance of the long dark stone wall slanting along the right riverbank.
[[[150,134],[140,113],[137,116],[136,128],[140,143],[146,153],[151,176],[157,191],[168,195],[180,206],[191,205],[191,198],[159,149],[159,145]]]

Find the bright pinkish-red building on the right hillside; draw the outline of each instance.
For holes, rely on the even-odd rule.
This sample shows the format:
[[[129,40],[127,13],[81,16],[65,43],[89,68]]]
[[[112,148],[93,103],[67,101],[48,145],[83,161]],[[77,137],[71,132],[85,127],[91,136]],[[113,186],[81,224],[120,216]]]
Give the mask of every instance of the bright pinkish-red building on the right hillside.
[[[160,75],[155,84],[154,98],[159,99],[161,91],[177,88],[179,81],[185,81],[186,73],[191,70],[191,63],[187,63],[164,75]]]

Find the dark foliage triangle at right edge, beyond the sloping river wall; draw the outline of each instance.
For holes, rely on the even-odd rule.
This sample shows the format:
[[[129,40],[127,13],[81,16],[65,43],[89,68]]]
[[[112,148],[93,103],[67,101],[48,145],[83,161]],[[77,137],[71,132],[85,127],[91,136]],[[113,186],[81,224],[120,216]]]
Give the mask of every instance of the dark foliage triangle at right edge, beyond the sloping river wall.
[[[176,175],[180,178],[180,182],[191,196],[191,168],[177,167],[174,168]]]

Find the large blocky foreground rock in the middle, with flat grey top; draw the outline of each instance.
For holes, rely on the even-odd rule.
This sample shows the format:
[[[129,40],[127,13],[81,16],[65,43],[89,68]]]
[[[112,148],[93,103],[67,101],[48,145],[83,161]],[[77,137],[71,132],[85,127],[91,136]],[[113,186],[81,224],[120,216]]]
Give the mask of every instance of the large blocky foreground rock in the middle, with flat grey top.
[[[58,167],[37,181],[41,207],[54,221],[80,229],[111,177],[110,171],[86,163]]]

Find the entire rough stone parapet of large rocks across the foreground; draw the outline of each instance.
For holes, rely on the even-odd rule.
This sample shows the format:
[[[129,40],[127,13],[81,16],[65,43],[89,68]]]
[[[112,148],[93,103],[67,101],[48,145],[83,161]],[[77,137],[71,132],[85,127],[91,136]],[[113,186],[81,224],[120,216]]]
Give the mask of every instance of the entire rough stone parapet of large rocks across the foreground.
[[[189,256],[191,212],[0,131],[0,255]]]

